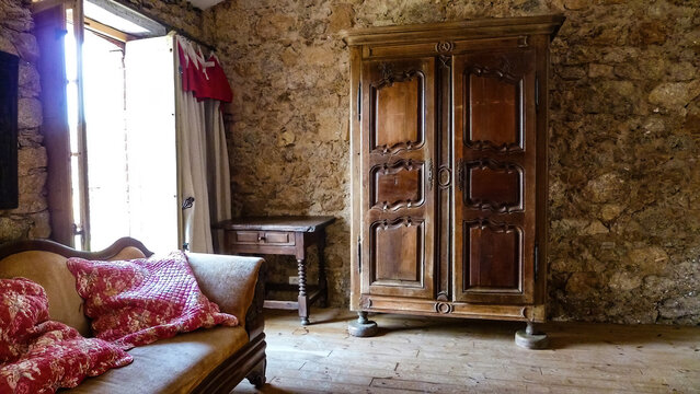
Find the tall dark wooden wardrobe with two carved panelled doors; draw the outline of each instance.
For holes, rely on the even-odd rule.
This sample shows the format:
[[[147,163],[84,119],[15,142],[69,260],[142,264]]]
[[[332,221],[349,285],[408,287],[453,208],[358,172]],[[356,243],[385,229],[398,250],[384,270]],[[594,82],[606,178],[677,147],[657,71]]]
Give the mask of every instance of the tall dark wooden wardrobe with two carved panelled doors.
[[[367,312],[544,321],[549,43],[563,20],[345,33],[352,334],[372,334]]]

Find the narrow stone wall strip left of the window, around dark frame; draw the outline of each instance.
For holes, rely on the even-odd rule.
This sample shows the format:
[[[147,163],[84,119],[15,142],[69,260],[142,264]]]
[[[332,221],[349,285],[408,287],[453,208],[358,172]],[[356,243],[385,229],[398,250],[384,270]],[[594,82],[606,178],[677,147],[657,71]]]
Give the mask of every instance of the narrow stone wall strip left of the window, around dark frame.
[[[46,204],[46,150],[39,132],[42,103],[36,70],[38,46],[28,0],[0,0],[0,50],[20,57],[19,72],[19,186],[16,209],[0,210],[0,243],[47,237],[50,233]]]

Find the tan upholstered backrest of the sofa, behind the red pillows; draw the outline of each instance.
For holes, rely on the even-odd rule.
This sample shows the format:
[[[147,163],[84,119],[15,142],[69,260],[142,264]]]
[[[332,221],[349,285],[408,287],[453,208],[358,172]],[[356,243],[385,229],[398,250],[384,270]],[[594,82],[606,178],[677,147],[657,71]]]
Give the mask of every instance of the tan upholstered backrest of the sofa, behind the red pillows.
[[[141,258],[136,247],[125,247],[111,259]],[[90,322],[83,314],[82,299],[76,291],[76,278],[66,267],[67,257],[45,251],[20,252],[0,260],[0,278],[23,277],[46,290],[51,320],[65,323],[82,336],[91,336]]]

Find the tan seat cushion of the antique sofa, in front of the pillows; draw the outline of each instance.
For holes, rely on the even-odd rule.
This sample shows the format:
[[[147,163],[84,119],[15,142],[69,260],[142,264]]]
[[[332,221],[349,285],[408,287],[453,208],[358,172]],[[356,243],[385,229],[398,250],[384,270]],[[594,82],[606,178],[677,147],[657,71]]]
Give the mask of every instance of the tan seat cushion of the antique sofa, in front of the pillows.
[[[129,350],[131,364],[89,378],[67,393],[188,393],[245,344],[240,326],[180,334]]]

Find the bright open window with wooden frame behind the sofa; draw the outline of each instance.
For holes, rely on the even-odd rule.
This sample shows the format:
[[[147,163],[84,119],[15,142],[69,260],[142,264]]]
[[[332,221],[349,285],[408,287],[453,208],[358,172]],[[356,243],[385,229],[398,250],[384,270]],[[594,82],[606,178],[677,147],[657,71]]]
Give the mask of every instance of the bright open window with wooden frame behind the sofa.
[[[48,92],[54,97],[62,92],[65,103],[62,118],[47,119],[53,237],[93,251],[126,235],[148,239],[154,251],[177,247],[175,131],[174,119],[168,119],[174,117],[174,103],[161,105],[174,101],[172,38],[164,56],[170,66],[156,65],[149,58],[153,54],[144,51],[149,44],[141,42],[158,40],[145,38],[153,35],[168,42],[158,23],[108,0],[79,1],[53,11],[54,20],[64,18],[58,23],[68,32],[58,43],[62,54],[54,49],[54,59],[45,60],[44,70],[39,67],[44,80],[60,60],[67,80]],[[44,43],[38,39],[42,48],[50,48],[49,36]],[[153,74],[170,82],[170,92],[168,86],[150,93],[140,88],[144,78],[152,80]]]

